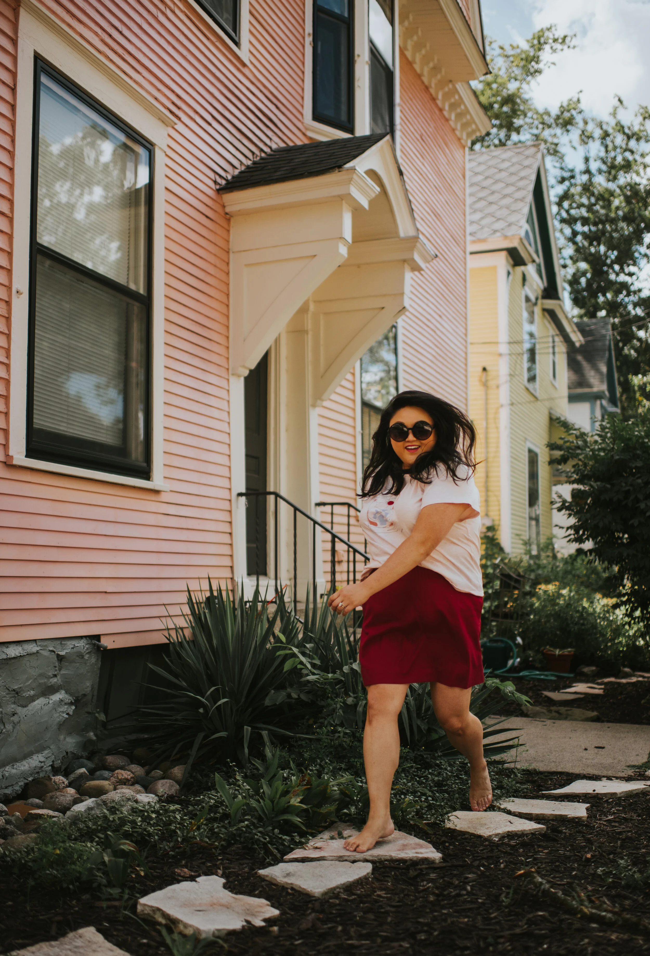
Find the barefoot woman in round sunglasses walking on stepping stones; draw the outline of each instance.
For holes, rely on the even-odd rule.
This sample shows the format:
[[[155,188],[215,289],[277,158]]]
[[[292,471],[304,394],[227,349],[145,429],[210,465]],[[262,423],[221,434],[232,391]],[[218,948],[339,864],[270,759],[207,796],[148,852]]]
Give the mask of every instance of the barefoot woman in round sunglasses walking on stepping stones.
[[[472,810],[486,810],[492,801],[483,728],[469,712],[471,688],[484,681],[475,438],[463,412],[417,391],[389,402],[373,435],[360,515],[371,561],[357,584],[330,598],[341,615],[363,606],[359,660],[368,688],[363,758],[370,814],[360,834],[345,841],[357,853],[395,829],[390,791],[409,684],[431,682],[436,717],[469,761]]]

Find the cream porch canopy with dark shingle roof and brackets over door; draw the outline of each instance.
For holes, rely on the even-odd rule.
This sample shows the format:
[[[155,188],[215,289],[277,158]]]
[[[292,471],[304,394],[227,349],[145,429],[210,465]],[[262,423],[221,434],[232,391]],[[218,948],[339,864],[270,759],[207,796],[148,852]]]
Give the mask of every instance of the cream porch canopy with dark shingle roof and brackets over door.
[[[275,149],[220,192],[231,217],[231,467],[239,578],[246,574],[245,518],[236,497],[245,490],[243,377],[277,342],[269,487],[314,513],[316,408],[408,308],[411,274],[434,253],[418,235],[391,138],[383,134]]]

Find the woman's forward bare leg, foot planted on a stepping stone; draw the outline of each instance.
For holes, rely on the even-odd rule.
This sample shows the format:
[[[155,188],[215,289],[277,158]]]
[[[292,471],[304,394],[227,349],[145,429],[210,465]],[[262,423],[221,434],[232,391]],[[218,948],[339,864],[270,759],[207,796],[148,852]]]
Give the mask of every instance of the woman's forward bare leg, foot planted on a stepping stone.
[[[365,764],[370,813],[358,836],[346,839],[346,850],[365,853],[382,836],[390,836],[395,827],[390,818],[390,789],[400,763],[398,717],[408,684],[372,684],[368,687],[368,714],[363,729]]]

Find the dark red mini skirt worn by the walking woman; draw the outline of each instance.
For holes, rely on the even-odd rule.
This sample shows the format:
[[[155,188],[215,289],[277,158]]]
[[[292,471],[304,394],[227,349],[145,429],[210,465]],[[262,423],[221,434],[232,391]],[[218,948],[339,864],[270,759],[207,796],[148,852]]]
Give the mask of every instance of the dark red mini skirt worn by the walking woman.
[[[483,684],[482,607],[483,597],[413,568],[363,605],[363,684]]]

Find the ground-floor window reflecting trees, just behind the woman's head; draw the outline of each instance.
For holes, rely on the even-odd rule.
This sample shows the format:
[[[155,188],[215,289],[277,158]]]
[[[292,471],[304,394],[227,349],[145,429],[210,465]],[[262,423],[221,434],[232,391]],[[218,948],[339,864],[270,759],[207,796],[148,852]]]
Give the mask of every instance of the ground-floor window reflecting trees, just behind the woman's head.
[[[361,445],[363,467],[370,461],[373,435],[385,406],[398,394],[398,327],[374,342],[361,357]]]

